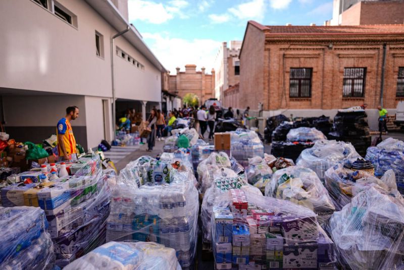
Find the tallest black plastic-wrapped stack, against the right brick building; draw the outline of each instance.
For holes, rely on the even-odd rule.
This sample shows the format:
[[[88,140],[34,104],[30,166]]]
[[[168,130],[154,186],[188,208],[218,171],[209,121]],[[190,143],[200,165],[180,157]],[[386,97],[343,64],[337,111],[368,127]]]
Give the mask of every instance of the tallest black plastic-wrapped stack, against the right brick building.
[[[368,115],[361,107],[338,110],[334,117],[334,131],[329,133],[328,138],[350,142],[361,156],[365,156],[372,141]]]

